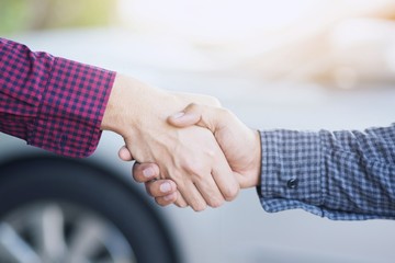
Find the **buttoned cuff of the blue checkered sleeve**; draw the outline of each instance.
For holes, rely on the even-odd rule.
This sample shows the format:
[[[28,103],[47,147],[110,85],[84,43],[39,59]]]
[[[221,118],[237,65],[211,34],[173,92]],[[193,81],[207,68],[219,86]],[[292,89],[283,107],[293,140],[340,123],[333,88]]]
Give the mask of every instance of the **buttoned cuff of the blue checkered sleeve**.
[[[324,216],[325,180],[317,133],[260,132],[262,144],[259,197],[269,213],[303,208]]]

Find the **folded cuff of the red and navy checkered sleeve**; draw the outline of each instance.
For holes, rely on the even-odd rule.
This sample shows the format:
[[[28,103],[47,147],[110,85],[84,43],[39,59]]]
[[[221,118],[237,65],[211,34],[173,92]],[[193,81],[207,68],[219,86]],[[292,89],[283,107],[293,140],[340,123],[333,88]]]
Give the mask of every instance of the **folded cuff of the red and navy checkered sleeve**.
[[[67,157],[90,156],[114,78],[115,72],[55,58],[27,144]]]

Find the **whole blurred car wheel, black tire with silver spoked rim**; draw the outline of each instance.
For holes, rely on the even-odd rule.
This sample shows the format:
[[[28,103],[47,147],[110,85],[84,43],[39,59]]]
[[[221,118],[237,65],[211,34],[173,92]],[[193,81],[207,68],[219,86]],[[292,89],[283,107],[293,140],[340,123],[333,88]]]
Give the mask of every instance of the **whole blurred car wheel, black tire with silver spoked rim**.
[[[0,167],[0,262],[179,262],[158,213],[109,171],[69,159]]]

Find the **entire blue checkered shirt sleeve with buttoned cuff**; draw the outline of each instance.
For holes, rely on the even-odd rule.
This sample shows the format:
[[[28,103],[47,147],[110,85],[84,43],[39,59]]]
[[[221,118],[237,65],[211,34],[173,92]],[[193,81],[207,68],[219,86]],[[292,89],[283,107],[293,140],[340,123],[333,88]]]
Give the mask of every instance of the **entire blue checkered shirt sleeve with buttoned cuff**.
[[[262,130],[261,204],[335,220],[395,219],[395,124],[363,132]]]

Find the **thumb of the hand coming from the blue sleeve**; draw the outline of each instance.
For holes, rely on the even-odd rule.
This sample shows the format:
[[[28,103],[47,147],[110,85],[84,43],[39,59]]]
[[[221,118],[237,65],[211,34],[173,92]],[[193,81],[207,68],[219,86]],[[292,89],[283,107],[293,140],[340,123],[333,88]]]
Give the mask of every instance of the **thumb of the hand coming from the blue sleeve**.
[[[199,125],[208,128],[214,133],[214,126],[210,125],[211,117],[208,114],[210,106],[203,106],[198,104],[188,105],[182,112],[176,113],[168,118],[169,124],[172,126],[183,128],[192,125]]]

